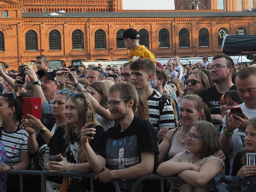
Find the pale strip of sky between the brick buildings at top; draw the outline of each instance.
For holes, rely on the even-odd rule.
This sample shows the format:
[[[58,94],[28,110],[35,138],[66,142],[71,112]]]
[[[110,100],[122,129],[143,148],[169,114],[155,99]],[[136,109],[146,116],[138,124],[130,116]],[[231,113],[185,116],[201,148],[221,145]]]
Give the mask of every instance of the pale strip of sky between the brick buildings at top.
[[[174,0],[123,0],[123,10],[174,10]]]

